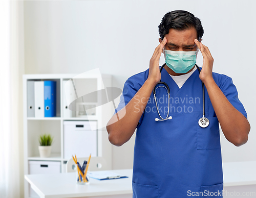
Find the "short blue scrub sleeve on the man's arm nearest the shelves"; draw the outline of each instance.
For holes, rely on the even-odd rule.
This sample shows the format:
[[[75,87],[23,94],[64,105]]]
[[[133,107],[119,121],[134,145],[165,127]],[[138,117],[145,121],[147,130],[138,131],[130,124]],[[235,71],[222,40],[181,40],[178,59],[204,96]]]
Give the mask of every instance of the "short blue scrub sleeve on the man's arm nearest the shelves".
[[[123,86],[122,95],[120,96],[119,105],[115,109],[114,114],[120,111],[122,108],[124,108],[132,100],[132,98],[137,93],[137,91],[141,88],[142,85],[137,80],[138,80],[137,78],[133,78],[133,77],[130,77],[129,79],[126,80]],[[139,119],[137,128],[139,127],[142,121],[143,115],[144,115],[144,112],[142,113]]]

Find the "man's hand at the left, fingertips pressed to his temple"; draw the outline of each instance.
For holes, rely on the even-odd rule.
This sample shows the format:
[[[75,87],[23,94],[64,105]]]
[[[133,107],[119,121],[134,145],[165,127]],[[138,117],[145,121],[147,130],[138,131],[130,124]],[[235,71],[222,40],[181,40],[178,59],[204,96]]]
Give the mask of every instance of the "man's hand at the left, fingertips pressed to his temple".
[[[159,59],[161,57],[163,47],[166,44],[167,39],[164,37],[162,42],[156,47],[155,52],[150,59],[150,70],[148,72],[148,80],[157,84],[161,80],[161,73],[159,70]]]

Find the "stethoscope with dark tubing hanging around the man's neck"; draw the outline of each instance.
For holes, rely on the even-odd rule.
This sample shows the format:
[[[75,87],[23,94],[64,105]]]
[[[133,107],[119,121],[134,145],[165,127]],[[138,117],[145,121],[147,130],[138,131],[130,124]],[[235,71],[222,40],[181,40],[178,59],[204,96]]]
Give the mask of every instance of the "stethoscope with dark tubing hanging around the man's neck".
[[[165,65],[165,63],[161,66],[161,68],[160,68],[160,73],[161,73],[161,71],[162,71],[164,65]],[[201,72],[200,68],[197,66],[197,64],[195,64],[195,65],[196,65],[196,67],[197,67],[197,69],[198,69],[198,71],[199,71],[199,73],[200,73],[200,72]],[[161,86],[158,86],[158,87],[156,88],[156,86],[157,86],[158,84],[163,84],[164,86],[161,85]],[[199,124],[200,127],[205,128],[205,127],[208,127],[210,121],[208,120],[208,118],[205,117],[205,113],[204,113],[204,106],[205,106],[205,105],[204,105],[204,83],[203,83],[203,82],[202,82],[202,85],[203,85],[203,117],[201,117],[201,118],[198,120],[198,124]],[[157,89],[158,89],[159,87],[164,87],[164,88],[166,89],[167,93],[168,93],[168,113],[167,113],[166,118],[162,118],[162,116],[161,116],[160,113],[159,113],[158,106],[157,106],[156,91],[157,91]],[[153,94],[154,94],[154,98],[155,98],[155,102],[156,102],[157,112],[158,112],[158,114],[159,114],[159,116],[160,116],[160,118],[161,118],[161,119],[156,118],[155,120],[156,120],[156,121],[164,121],[164,120],[172,119],[173,117],[172,117],[172,116],[169,116],[169,109],[170,109],[170,89],[169,89],[169,86],[168,86],[165,82],[161,82],[161,81],[160,81],[159,83],[157,83],[157,84],[155,85],[155,87],[154,87],[154,89],[153,89]]]

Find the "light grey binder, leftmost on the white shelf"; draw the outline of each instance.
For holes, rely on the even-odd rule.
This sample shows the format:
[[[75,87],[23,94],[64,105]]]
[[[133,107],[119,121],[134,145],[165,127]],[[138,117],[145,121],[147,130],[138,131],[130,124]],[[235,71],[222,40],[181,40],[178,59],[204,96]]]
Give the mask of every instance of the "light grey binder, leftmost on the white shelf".
[[[35,117],[35,82],[27,82],[27,116]]]

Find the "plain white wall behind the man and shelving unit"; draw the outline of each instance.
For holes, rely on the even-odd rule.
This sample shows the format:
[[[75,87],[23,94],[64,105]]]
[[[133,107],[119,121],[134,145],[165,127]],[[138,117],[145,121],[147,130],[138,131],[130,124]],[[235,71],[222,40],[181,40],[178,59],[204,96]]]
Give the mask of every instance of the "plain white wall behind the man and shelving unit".
[[[113,86],[122,88],[127,78],[148,68],[163,15],[187,10],[201,19],[203,43],[215,59],[214,71],[232,77],[251,123],[249,140],[241,147],[221,135],[223,161],[256,160],[255,6],[253,0],[25,1],[26,73],[99,68],[113,75]],[[198,65],[202,65],[200,53]],[[135,135],[114,147],[113,168],[132,168],[134,140]]]

